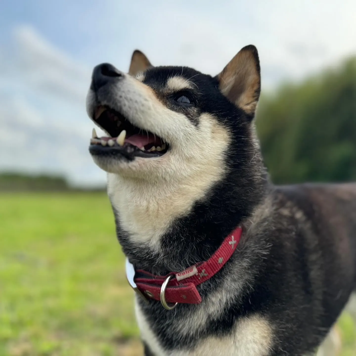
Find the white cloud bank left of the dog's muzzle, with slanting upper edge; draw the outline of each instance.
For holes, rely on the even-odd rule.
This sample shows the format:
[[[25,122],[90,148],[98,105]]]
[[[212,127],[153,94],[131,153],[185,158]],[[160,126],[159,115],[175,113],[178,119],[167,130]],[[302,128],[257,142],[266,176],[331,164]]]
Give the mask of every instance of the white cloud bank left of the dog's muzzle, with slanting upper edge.
[[[28,26],[15,29],[13,51],[2,59],[8,70],[0,83],[0,168],[103,184],[105,173],[88,152],[94,125],[85,112],[88,67]]]

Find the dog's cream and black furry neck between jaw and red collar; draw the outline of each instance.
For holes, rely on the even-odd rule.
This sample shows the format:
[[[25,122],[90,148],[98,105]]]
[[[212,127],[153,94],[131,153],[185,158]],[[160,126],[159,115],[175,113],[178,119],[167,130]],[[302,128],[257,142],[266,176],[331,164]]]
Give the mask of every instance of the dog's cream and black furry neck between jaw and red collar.
[[[268,191],[258,145],[253,160],[243,181],[239,169],[217,182],[212,181],[216,172],[164,182],[109,174],[108,194],[125,255],[157,273],[207,260]]]

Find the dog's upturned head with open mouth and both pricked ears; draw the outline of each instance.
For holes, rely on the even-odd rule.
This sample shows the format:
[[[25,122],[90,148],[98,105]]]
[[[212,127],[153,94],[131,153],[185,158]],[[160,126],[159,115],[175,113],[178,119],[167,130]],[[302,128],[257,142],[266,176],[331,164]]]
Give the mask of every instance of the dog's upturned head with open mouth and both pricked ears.
[[[197,166],[220,169],[231,134],[251,121],[259,94],[253,46],[216,77],[153,67],[135,51],[129,74],[107,63],[94,68],[87,111],[109,137],[93,131],[90,153],[106,172],[148,180],[187,176]]]

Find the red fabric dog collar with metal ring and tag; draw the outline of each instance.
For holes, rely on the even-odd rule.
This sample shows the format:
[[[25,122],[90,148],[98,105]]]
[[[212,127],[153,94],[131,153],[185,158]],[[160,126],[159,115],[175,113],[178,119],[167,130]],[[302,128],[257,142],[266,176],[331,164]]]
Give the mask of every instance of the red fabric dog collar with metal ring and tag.
[[[213,277],[232,256],[240,242],[241,227],[237,227],[226,237],[223,244],[209,258],[208,261],[199,262],[182,272],[171,272],[166,276],[153,276],[153,274],[138,269],[126,260],[126,276],[131,287],[144,299],[161,300],[166,309],[172,309],[167,303],[201,303],[197,286]]]

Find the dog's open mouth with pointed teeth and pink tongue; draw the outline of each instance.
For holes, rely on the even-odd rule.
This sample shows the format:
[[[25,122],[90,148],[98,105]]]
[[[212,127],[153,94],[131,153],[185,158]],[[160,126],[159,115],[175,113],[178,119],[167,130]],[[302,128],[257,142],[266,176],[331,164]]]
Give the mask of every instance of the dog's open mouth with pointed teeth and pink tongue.
[[[169,148],[162,138],[132,125],[125,116],[106,106],[95,109],[94,121],[110,137],[97,137],[93,129],[89,147],[92,155],[152,158],[164,155]]]

